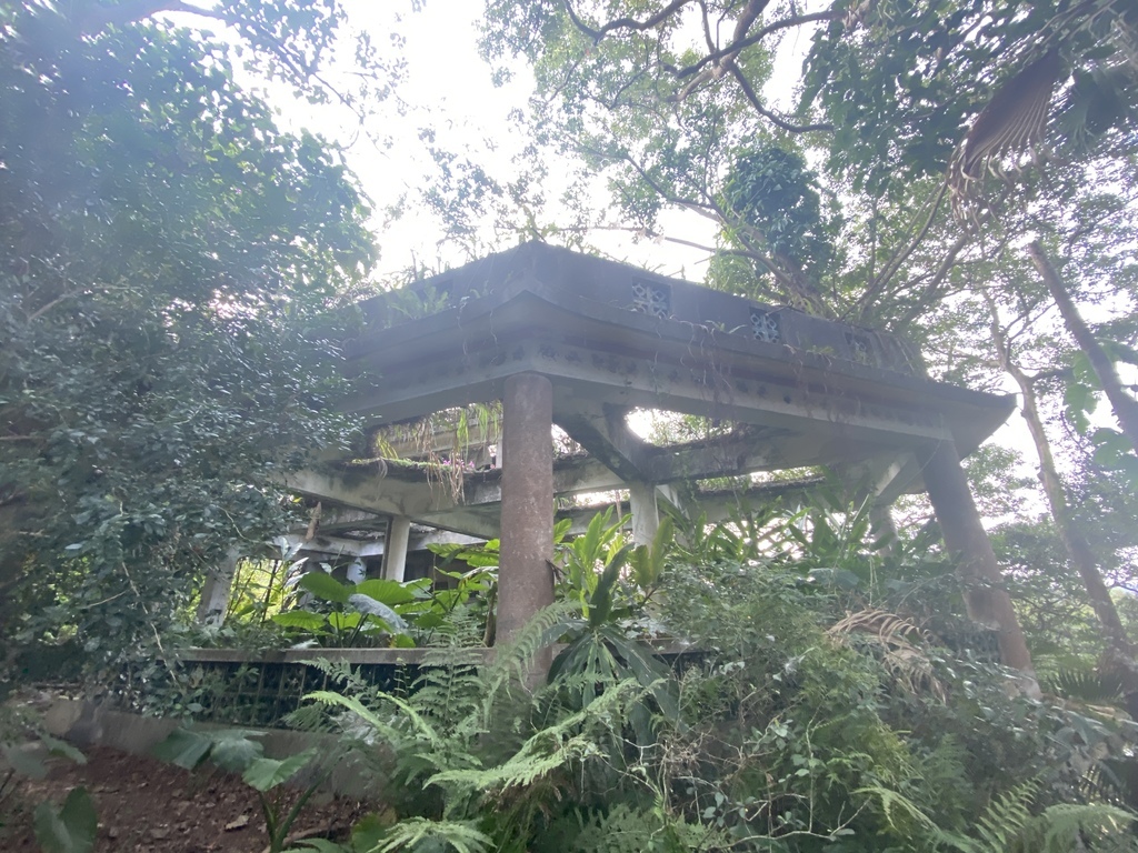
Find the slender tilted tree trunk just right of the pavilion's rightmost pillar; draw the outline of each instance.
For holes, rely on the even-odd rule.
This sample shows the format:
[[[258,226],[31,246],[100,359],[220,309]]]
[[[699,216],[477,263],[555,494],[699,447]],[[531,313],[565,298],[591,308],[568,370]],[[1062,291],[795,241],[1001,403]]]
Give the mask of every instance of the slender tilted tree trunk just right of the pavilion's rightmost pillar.
[[[987,291],[984,291],[984,298],[988,301],[988,309],[991,314],[992,341],[996,345],[1000,366],[1015,380],[1023,395],[1023,419],[1028,424],[1028,430],[1031,432],[1031,440],[1036,446],[1036,454],[1039,457],[1040,481],[1044,485],[1044,494],[1047,496],[1047,505],[1050,508],[1055,528],[1058,530],[1059,539],[1063,541],[1063,547],[1071,558],[1071,564],[1079,572],[1079,577],[1082,578],[1087,596],[1090,598],[1090,605],[1095,610],[1095,615],[1098,616],[1098,621],[1102,623],[1111,646],[1132,660],[1135,655],[1133,644],[1131,644],[1130,638],[1127,636],[1122,620],[1119,618],[1119,611],[1111,598],[1111,591],[1103,581],[1102,573],[1098,571],[1098,562],[1090,549],[1090,545],[1071,515],[1071,508],[1066,500],[1066,491],[1055,467],[1055,457],[1052,455],[1050,441],[1047,438],[1042,419],[1039,415],[1039,397],[1036,394],[1034,382],[1012,358],[1007,337],[1000,328],[999,314],[995,300],[992,300]]]

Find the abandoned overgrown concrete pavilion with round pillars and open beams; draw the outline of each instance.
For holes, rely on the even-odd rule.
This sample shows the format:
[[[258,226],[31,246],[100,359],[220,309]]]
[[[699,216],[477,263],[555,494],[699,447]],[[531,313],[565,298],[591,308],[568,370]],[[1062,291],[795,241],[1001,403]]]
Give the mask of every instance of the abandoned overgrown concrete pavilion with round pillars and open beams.
[[[661,502],[715,519],[739,499],[687,506],[684,483],[825,465],[868,483],[882,507],[927,491],[947,547],[962,555],[970,614],[998,632],[1004,663],[1030,668],[959,462],[1005,421],[1011,397],[930,381],[891,336],[543,243],[361,307],[364,331],[346,346],[352,415],[376,430],[501,400],[502,426],[481,424],[465,444],[456,429],[418,445],[384,433],[404,458],[476,463],[451,483],[437,466],[348,458],[296,473],[289,488],[320,505],[319,523],[298,533],[307,553],[403,580],[422,573],[429,541],[501,537],[498,631],[509,636],[552,601],[558,497],[627,492],[633,537],[648,541]],[[637,409],[734,425],[658,446],[629,428]],[[554,426],[579,452],[555,454]],[[752,505],[773,488],[754,486]],[[579,522],[583,511],[567,513]],[[204,608],[224,602],[229,573],[209,585]]]

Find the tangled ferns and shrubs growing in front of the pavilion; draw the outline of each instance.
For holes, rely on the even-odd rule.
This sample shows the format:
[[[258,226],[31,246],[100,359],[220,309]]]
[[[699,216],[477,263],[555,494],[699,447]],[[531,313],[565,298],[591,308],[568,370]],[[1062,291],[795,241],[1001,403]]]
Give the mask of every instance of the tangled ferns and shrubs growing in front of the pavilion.
[[[935,572],[920,546],[899,544],[885,581],[864,573],[857,507],[808,514],[684,530],[659,552],[651,611],[699,652],[652,681],[570,643],[547,684],[522,687],[543,638],[585,606],[602,618],[620,548],[594,521],[587,605],[570,594],[490,663],[440,649],[410,691],[328,665],[341,689],[312,698],[333,713],[295,721],[373,767],[382,851],[1133,850],[1118,780],[1138,729],[1102,704],[1110,688],[1063,682],[1087,704],[1009,690],[965,622],[930,631],[888,610],[909,597],[898,580]],[[791,553],[801,529],[815,545]],[[642,621],[609,622],[618,659]]]

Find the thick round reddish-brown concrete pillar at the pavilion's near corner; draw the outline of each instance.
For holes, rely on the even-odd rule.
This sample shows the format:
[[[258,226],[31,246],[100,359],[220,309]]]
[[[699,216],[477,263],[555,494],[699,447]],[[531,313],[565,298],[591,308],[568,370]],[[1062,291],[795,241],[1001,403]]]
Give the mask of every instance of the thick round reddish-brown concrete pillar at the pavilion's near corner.
[[[502,398],[502,550],[497,637],[553,603],[553,386],[537,373],[505,381]]]

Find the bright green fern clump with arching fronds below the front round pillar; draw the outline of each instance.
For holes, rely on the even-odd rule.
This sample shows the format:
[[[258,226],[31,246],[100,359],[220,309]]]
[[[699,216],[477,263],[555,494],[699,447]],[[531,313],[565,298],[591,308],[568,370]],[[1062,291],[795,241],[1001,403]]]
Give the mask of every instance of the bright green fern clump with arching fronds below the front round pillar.
[[[358,684],[355,695],[310,695],[382,743],[409,794],[381,851],[478,853],[492,842],[495,850],[525,850],[543,803],[561,796],[576,768],[604,754],[602,743],[611,744],[644,696],[635,679],[608,685],[583,709],[560,705],[553,688],[526,687],[553,626],[574,610],[539,614],[490,661],[471,649],[431,652],[404,696]]]

